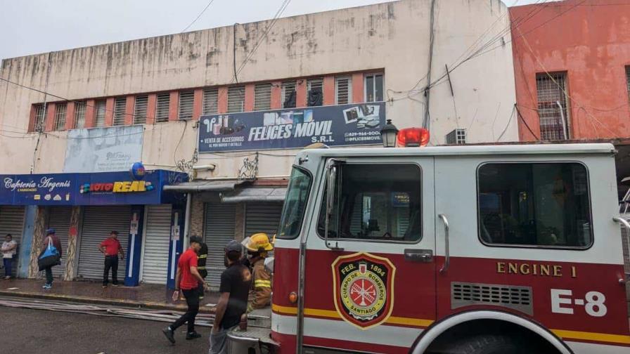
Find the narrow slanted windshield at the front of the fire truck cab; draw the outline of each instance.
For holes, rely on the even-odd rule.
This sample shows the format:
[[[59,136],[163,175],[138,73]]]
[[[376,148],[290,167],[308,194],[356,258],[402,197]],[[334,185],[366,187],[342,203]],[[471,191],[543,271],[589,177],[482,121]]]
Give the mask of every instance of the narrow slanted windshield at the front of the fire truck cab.
[[[276,237],[294,239],[300,234],[310,190],[311,175],[307,171],[294,167],[291,172]]]

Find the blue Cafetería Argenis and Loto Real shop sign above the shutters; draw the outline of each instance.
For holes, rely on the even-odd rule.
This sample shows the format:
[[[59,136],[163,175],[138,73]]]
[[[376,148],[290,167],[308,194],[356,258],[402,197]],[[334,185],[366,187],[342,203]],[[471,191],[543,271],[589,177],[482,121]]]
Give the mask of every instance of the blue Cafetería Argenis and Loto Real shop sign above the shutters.
[[[187,180],[186,173],[155,170],[133,176],[129,171],[0,176],[0,204],[113,205],[171,203],[176,195],[165,185]]]

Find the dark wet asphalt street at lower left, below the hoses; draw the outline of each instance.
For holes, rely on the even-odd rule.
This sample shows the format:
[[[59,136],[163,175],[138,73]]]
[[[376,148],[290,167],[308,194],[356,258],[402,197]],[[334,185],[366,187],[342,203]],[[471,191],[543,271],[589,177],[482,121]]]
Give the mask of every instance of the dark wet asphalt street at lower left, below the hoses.
[[[209,327],[198,327],[202,338],[193,341],[184,339],[186,326],[179,328],[172,346],[161,332],[166,325],[119,317],[0,307],[0,353],[207,353]]]

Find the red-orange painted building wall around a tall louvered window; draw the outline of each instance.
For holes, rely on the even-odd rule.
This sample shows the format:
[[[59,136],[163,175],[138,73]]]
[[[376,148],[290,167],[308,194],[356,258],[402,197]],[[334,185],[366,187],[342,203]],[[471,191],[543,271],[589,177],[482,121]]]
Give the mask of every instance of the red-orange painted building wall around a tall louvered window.
[[[546,72],[566,75],[570,138],[630,137],[629,0],[516,6],[510,22],[521,140],[541,136],[536,74]]]

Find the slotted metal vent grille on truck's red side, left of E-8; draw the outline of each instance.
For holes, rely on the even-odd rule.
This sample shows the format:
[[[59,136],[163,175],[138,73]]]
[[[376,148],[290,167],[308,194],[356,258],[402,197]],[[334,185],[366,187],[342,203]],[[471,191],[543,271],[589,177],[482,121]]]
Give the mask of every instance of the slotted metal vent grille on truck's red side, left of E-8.
[[[473,305],[500,306],[533,315],[532,287],[451,282],[451,309]]]

